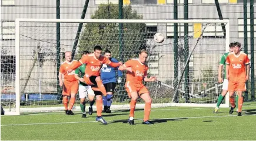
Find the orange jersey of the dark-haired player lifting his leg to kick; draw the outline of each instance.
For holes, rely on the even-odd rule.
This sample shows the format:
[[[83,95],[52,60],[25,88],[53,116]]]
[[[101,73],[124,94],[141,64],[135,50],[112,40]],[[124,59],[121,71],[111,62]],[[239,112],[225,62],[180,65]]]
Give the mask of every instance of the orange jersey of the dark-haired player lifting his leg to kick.
[[[82,59],[80,59],[79,61],[81,64],[87,64],[87,67],[85,68],[85,74],[88,74],[90,76],[99,76],[101,65],[111,63],[111,61],[104,56],[100,56],[99,59],[97,59],[93,53],[82,56]]]

